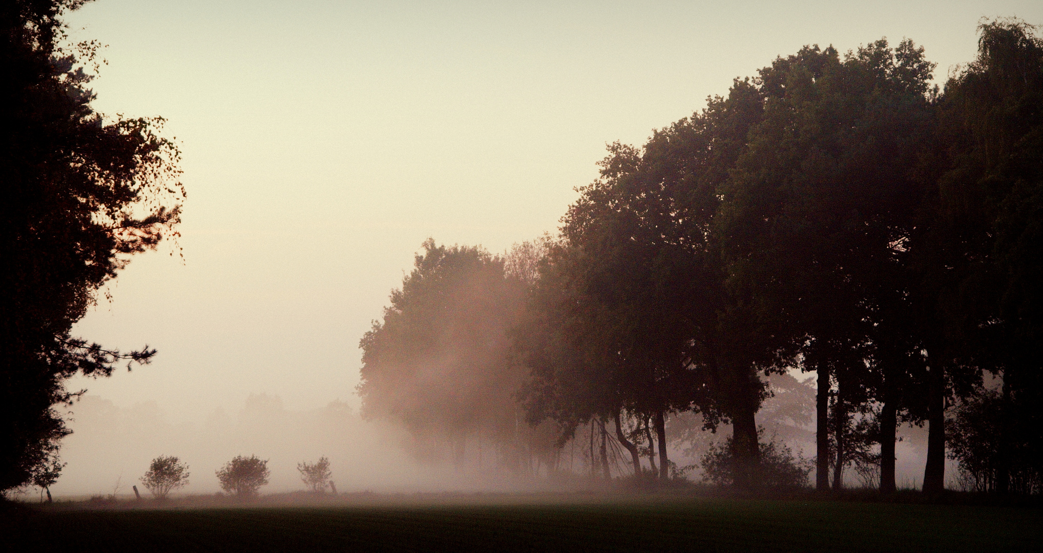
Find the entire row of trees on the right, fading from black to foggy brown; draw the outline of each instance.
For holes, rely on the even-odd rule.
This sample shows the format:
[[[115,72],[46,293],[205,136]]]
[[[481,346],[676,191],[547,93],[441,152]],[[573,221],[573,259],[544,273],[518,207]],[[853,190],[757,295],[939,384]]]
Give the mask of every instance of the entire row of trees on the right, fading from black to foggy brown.
[[[893,491],[916,424],[924,491],[948,449],[970,488],[1039,494],[1043,41],[1016,19],[979,33],[942,90],[908,40],[804,47],[610,145],[559,235],[504,257],[425,242],[362,339],[364,413],[458,456],[483,436],[514,467],[555,466],[592,425],[639,473],[654,432],[661,478],[664,419],[701,413],[757,487],[765,377],[797,368],[819,383],[819,489],[869,457]]]

